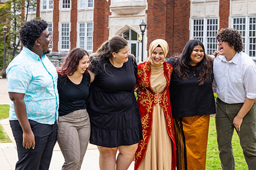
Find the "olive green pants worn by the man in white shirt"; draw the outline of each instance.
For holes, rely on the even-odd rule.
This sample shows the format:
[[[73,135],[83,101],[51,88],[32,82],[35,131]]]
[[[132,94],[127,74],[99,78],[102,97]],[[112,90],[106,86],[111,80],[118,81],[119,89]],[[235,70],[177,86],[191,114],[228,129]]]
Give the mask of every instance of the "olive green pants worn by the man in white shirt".
[[[227,104],[216,100],[216,130],[218,150],[220,151],[221,166],[224,170],[233,170],[234,154],[232,136],[234,133],[233,120],[240,111],[243,103]],[[236,129],[235,129],[236,130]],[[237,131],[245,160],[250,170],[256,169],[256,104],[243,118],[241,130]],[[245,167],[246,169],[246,167]]]

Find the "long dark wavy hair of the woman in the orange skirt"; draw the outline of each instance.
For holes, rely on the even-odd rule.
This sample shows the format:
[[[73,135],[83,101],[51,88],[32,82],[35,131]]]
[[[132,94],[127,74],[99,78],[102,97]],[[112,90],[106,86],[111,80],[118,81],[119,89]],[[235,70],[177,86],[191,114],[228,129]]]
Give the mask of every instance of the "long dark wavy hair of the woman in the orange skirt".
[[[194,67],[196,75],[199,77],[199,85],[203,85],[205,80],[208,79],[208,75],[212,74],[212,58],[210,58],[204,49],[204,44],[199,40],[189,40],[185,45],[180,56],[175,57],[174,69],[177,72],[179,78],[190,78],[189,72],[191,70],[191,54],[195,46],[200,45],[204,50],[204,58],[197,63]]]

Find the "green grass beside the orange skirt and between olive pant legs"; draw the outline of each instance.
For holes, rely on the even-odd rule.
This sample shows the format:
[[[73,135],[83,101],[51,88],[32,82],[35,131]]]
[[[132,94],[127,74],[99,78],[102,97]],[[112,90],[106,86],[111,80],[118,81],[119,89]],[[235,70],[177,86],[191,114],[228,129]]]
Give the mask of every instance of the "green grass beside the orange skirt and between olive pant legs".
[[[233,145],[234,158],[236,162],[236,170],[247,169],[245,157],[243,156],[242,148],[240,146],[240,141],[235,130],[232,138],[232,145]],[[216,135],[214,117],[210,118],[206,167],[207,167],[206,168],[207,170],[221,169],[221,163],[218,157],[218,145],[217,145],[217,135]]]

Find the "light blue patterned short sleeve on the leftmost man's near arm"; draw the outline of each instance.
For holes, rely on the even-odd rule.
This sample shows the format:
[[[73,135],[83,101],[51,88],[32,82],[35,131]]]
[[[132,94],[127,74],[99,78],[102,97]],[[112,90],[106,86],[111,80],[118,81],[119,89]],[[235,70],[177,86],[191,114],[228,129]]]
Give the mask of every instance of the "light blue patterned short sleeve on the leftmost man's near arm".
[[[32,74],[24,65],[16,63],[7,68],[7,90],[8,92],[16,92],[26,94]]]

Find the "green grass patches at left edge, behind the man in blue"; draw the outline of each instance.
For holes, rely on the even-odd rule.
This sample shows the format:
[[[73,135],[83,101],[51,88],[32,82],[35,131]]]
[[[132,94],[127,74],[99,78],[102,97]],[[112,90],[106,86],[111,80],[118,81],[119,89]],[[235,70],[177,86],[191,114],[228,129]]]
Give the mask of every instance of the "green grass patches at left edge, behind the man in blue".
[[[7,104],[0,105],[0,120],[9,117],[9,108]],[[0,143],[11,142],[8,135],[3,131],[3,127],[0,125]]]

